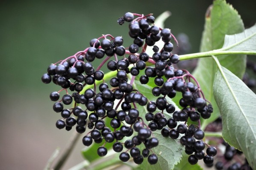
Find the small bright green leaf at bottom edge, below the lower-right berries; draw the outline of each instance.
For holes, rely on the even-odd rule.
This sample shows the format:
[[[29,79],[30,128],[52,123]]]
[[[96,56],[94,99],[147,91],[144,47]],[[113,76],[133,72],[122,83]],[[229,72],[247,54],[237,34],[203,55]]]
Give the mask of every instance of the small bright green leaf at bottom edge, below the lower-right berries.
[[[199,164],[191,165],[188,162],[188,154],[185,152],[182,154],[182,160],[179,162],[179,164],[175,165],[173,170],[202,170],[202,167],[199,166]]]

